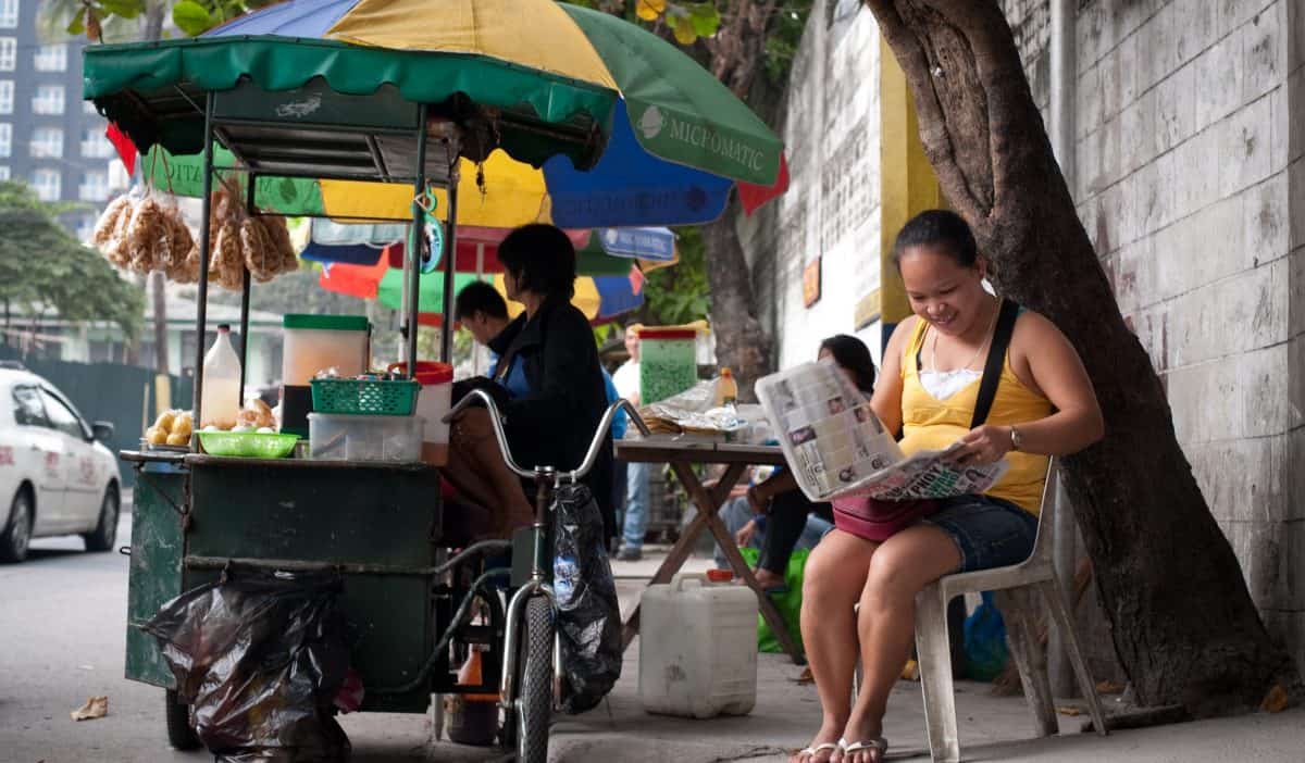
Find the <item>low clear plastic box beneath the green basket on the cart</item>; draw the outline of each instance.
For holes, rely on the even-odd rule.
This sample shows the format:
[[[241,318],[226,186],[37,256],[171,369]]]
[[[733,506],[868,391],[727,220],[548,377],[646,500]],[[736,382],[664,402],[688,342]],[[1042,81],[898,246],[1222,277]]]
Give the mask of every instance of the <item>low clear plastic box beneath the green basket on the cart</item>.
[[[325,460],[422,460],[420,416],[308,415],[311,458]]]

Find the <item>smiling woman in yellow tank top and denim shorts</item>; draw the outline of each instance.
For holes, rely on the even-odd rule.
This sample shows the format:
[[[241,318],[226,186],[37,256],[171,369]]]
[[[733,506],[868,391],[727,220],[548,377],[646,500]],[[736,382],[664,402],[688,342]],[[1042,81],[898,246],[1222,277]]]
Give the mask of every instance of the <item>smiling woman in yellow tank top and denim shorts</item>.
[[[916,593],[950,573],[1023,561],[1048,456],[1077,453],[1104,432],[1078,353],[1051,321],[1014,305],[1004,310],[984,288],[988,266],[960,217],[933,210],[911,219],[894,261],[915,314],[889,340],[870,407],[889,432],[902,432],[908,456],[944,450],[962,475],[1002,460],[1009,468],[983,493],[942,498],[887,537],[855,522],[869,519],[874,530],[872,500],[835,500],[838,530],[806,562],[801,610],[823,720],[795,763],[883,759],[883,712],[910,653]],[[1002,313],[1009,344],[994,365],[1000,378],[984,423],[971,426]],[[852,704],[857,656],[865,678]]]

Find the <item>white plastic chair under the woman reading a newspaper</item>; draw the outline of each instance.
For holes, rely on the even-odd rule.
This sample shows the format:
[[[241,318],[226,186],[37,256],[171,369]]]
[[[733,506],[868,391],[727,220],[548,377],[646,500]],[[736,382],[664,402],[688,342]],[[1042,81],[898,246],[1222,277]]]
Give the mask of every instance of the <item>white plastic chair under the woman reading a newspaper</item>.
[[[1083,660],[1069,604],[1061,592],[1052,563],[1052,527],[1054,527],[1056,462],[1048,464],[1047,486],[1037,522],[1034,553],[1018,565],[945,575],[915,599],[915,648],[920,660],[920,686],[924,690],[924,717],[929,728],[929,753],[936,763],[960,760],[960,738],[957,733],[957,704],[951,685],[951,647],[947,635],[947,603],[964,593],[993,591],[1006,623],[1006,646],[1010,648],[1024,696],[1034,713],[1039,737],[1060,732],[1051,682],[1047,677],[1047,651],[1037,639],[1039,595],[1060,629],[1061,642],[1069,651],[1079,690],[1087,700],[1096,733],[1105,736],[1105,717],[1096,695],[1096,683]]]

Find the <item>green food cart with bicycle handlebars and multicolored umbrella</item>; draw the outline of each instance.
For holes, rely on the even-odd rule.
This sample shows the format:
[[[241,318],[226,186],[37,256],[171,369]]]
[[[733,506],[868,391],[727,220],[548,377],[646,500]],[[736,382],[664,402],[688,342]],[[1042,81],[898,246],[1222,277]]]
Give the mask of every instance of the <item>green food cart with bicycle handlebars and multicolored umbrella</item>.
[[[500,26],[468,35],[459,23],[440,23],[441,12]],[[414,23],[419,16],[425,21]],[[395,42],[405,35],[422,39]],[[535,47],[535,39],[545,42]],[[452,253],[463,219],[484,227],[692,224],[719,217],[736,185],[745,207],[787,187],[778,138],[710,73],[655,35],[552,0],[435,8],[291,0],[193,40],[94,46],[84,73],[85,97],[147,153],[155,185],[164,185],[162,168],[170,190],[204,201],[197,369],[215,180],[243,190],[249,215],[410,219],[402,310],[410,369],[418,368],[422,273],[437,260],[446,270],[444,325],[452,325]],[[442,257],[423,252],[428,218],[445,220]],[[241,335],[251,282],[245,270]],[[450,344],[446,331],[444,359]],[[202,387],[197,373],[196,424]],[[505,446],[501,428],[499,437]],[[600,429],[587,464],[603,442]],[[193,443],[188,453],[142,449],[123,458],[140,472],[127,676],[167,691],[175,746],[196,743],[191,719],[141,626],[181,592],[249,565],[342,576],[342,606],[361,634],[350,655],[365,685],[360,710],[425,712],[432,693],[497,693],[500,738],[521,759],[544,760],[559,669],[547,503],[583,467],[513,464],[539,489],[535,524],[510,543],[504,605],[508,597],[485,588],[508,573],[487,570],[484,556],[509,543],[444,558],[448,518],[432,466],[224,458]],[[512,463],[506,450],[505,458]],[[474,600],[488,608],[476,625],[466,620]],[[482,685],[457,683],[450,650],[472,644],[489,647]]]

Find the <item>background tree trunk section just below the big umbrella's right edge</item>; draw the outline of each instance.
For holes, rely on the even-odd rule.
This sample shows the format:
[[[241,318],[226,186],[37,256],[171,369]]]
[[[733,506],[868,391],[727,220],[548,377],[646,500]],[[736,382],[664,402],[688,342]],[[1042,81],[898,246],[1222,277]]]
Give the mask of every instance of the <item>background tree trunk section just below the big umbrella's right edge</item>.
[[[707,283],[711,286],[711,323],[716,337],[716,360],[739,380],[739,398],[754,403],[753,382],[770,373],[770,337],[757,318],[748,260],[739,243],[736,203],[719,220],[702,228]]]

